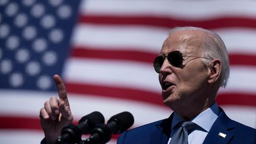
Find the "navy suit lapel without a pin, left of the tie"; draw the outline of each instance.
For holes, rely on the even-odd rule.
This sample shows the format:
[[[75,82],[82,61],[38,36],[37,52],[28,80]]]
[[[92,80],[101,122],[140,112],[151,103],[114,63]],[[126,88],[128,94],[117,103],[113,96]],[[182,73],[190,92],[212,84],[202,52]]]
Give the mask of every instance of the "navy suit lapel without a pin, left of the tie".
[[[167,143],[169,140],[169,136],[171,135],[171,121],[172,121],[173,113],[169,116],[168,119],[162,121],[162,123],[157,124],[157,129],[151,133],[150,143]]]

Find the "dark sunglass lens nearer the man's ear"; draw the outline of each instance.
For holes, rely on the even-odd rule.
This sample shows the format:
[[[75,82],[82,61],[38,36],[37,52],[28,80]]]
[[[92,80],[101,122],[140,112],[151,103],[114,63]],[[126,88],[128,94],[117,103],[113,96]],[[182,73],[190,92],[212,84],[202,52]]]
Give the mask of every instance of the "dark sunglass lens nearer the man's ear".
[[[168,62],[175,67],[179,67],[183,64],[183,56],[180,51],[170,52],[167,56],[167,59]]]

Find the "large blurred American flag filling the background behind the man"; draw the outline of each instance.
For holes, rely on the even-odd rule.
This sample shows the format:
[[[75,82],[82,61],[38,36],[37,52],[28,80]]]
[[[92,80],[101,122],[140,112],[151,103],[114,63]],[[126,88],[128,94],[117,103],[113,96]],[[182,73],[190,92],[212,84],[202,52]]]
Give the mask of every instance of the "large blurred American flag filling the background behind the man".
[[[169,29],[185,25],[222,37],[231,76],[217,103],[256,128],[256,1],[0,0],[0,143],[44,137],[39,110],[57,96],[55,73],[75,123],[92,111],[106,121],[130,111],[133,127],[167,118],[152,62]]]

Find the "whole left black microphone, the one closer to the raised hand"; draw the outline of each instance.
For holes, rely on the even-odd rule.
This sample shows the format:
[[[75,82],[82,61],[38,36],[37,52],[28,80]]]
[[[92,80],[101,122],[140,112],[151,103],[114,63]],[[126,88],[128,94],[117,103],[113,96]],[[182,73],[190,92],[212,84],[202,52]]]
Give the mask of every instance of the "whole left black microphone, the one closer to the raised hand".
[[[68,126],[63,127],[61,136],[57,138],[56,143],[78,143],[81,141],[81,136],[83,134],[91,133],[91,130],[96,124],[104,124],[104,121],[103,114],[98,111],[87,114],[78,121],[78,126],[69,124]]]

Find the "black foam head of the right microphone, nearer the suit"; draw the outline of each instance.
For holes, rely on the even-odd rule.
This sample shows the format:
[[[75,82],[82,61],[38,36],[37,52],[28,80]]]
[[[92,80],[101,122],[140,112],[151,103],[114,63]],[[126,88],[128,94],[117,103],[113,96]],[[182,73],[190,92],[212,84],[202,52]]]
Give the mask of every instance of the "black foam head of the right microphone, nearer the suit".
[[[113,134],[119,134],[129,129],[134,123],[134,118],[131,113],[124,111],[122,113],[116,114],[110,117],[107,123],[114,122],[117,124],[117,129],[114,130]]]

